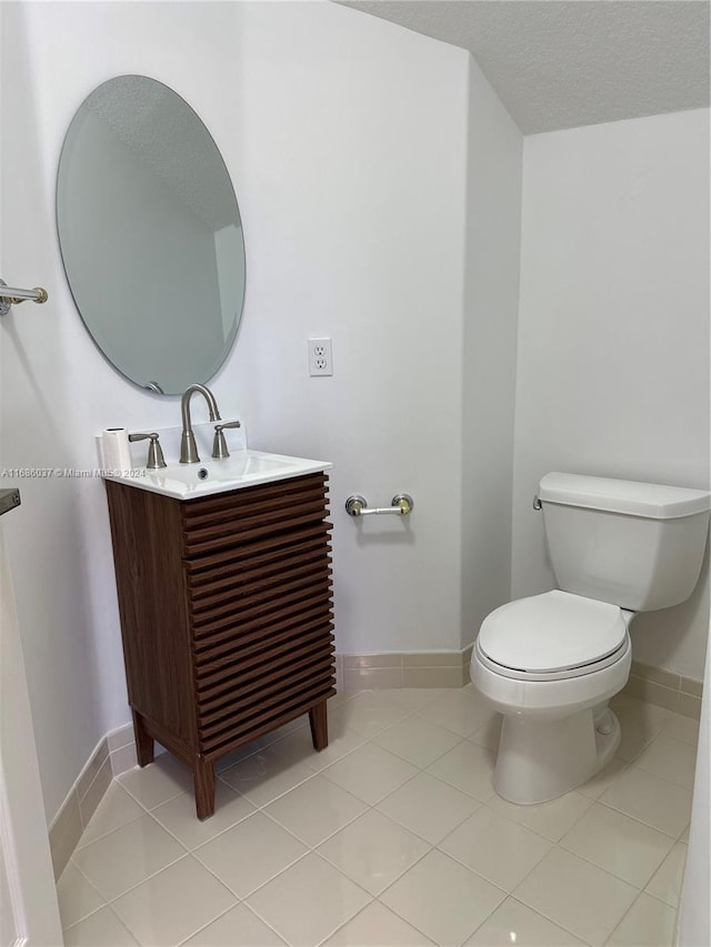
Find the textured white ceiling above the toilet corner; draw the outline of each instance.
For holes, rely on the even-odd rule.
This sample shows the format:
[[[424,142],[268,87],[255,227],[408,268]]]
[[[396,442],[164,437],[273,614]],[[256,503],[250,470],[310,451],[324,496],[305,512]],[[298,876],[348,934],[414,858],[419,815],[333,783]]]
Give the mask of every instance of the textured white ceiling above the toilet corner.
[[[709,104],[708,0],[337,0],[463,47],[524,133]]]

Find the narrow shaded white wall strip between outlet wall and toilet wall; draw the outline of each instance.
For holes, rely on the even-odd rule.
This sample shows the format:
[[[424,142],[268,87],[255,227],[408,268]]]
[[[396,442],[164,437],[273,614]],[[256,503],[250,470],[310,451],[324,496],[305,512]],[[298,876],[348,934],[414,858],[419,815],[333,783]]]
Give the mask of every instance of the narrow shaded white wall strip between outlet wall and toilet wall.
[[[511,596],[511,488],[523,135],[469,72],[462,345],[462,646]]]

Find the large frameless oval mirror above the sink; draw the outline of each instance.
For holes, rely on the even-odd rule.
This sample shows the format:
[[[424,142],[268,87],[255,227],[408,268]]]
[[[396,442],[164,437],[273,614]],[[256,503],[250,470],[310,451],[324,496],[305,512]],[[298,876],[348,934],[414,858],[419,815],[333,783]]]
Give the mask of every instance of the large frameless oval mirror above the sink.
[[[180,95],[119,75],[86,99],[57,225],[84,325],[126,377],[161,394],[212,377],[242,314],[244,240],[222,155]]]

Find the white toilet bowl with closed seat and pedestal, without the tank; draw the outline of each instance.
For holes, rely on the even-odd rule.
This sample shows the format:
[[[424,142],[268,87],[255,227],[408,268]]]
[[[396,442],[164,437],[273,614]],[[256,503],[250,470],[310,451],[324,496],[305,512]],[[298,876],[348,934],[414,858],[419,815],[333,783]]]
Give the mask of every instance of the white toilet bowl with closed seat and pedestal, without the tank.
[[[624,687],[633,613],[553,591],[483,622],[474,686],[503,714],[494,789],[520,805],[557,798],[602,769],[620,743],[607,702]]]

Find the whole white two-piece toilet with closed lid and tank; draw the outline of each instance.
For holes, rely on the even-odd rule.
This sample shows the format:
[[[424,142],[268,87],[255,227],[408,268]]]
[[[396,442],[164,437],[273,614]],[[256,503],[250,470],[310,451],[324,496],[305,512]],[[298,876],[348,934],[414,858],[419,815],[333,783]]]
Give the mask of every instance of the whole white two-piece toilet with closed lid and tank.
[[[488,615],[471,658],[474,686],[503,714],[494,788],[504,799],[553,799],[611,759],[620,724],[608,701],[630,673],[630,622],[691,595],[710,501],[608,477],[541,480],[534,505],[559,588]]]

